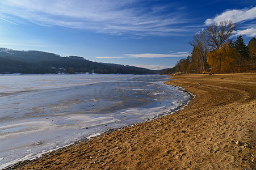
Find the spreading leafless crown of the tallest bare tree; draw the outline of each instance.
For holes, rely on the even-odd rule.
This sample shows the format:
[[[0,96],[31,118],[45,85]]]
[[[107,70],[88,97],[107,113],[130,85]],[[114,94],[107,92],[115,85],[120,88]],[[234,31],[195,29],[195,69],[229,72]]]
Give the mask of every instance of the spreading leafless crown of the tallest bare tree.
[[[234,33],[238,27],[237,23],[233,23],[230,20],[225,20],[224,22],[212,23],[209,25],[205,32],[207,33],[207,44],[211,50],[220,49],[224,45],[230,36]]]

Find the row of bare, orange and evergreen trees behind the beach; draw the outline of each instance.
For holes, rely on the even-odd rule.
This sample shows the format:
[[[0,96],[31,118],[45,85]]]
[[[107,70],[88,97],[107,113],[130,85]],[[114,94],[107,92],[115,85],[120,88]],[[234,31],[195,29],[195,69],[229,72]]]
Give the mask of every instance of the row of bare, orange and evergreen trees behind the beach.
[[[192,47],[191,56],[180,59],[176,73],[242,73],[256,70],[256,39],[248,45],[242,35],[230,40],[238,24],[230,20],[212,23],[196,33],[188,42]]]

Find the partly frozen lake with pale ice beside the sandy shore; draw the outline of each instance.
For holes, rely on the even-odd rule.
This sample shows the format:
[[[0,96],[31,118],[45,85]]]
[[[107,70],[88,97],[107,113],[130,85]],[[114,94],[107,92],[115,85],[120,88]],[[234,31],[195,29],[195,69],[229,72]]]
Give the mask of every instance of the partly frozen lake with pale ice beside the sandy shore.
[[[0,75],[0,168],[169,113],[190,96],[163,75]]]

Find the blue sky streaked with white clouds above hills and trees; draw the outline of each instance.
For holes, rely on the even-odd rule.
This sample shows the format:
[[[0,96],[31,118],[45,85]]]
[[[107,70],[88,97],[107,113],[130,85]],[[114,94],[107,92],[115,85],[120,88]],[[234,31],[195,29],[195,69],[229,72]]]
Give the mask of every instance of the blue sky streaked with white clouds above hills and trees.
[[[239,23],[256,37],[256,3],[246,1],[5,0],[0,47],[160,70],[192,51],[192,36],[213,22]]]

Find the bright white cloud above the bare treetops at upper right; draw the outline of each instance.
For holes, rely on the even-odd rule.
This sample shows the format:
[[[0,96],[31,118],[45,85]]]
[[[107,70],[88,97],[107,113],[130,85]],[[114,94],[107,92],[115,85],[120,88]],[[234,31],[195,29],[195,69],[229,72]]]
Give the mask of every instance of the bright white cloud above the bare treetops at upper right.
[[[226,10],[220,15],[215,16],[213,19],[205,20],[205,25],[212,23],[220,23],[224,20],[232,20],[233,23],[244,22],[256,18],[256,6],[253,8],[244,8],[242,10]]]

